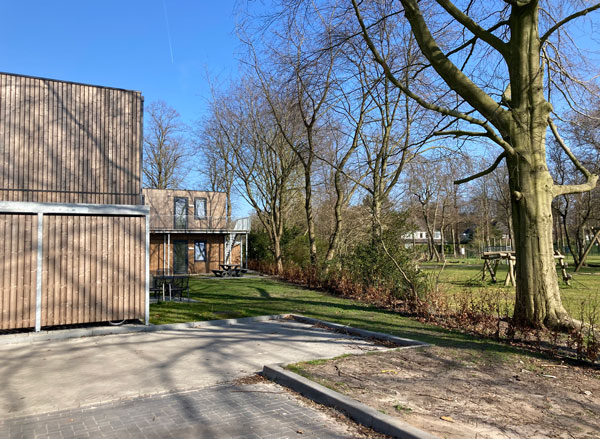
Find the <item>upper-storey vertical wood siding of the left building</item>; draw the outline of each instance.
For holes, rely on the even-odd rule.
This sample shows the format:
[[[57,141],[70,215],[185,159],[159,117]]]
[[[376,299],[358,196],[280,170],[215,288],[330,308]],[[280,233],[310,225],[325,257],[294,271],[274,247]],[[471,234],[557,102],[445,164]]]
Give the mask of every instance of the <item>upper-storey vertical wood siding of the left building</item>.
[[[140,204],[139,92],[0,73],[0,200]]]

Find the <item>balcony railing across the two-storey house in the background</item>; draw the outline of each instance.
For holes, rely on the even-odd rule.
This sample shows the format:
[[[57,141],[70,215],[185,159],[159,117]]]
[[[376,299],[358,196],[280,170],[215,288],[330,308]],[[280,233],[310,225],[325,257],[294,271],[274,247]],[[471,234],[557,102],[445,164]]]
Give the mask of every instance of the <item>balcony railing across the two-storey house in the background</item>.
[[[250,231],[250,218],[227,218],[225,216],[195,218],[193,215],[152,215],[151,213],[150,230],[246,233]]]

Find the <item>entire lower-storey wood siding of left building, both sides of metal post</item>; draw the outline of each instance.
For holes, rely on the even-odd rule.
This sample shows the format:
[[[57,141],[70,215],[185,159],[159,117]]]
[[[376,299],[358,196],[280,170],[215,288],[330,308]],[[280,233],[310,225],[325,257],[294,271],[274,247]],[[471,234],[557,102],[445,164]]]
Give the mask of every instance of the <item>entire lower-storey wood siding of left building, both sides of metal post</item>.
[[[144,217],[44,215],[42,326],[144,319]],[[37,216],[0,214],[0,329],[35,326]]]

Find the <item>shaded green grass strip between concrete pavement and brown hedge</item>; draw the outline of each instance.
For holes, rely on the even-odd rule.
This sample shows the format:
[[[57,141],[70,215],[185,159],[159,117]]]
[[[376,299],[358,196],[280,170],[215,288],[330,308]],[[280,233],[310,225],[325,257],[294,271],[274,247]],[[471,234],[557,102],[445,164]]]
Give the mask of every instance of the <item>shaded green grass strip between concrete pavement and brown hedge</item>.
[[[162,302],[150,305],[153,324],[296,313],[371,331],[414,338],[438,346],[478,352],[500,360],[524,354],[514,347],[425,325],[364,303],[331,296],[267,277],[192,278],[195,303]],[[535,356],[525,353],[525,355]]]

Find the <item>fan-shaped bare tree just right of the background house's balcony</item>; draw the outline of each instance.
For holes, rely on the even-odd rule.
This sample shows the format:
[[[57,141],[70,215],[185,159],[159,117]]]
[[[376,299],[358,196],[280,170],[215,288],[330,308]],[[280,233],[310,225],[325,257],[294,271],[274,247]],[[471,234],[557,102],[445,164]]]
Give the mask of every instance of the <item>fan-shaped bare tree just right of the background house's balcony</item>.
[[[297,193],[297,156],[282,136],[280,122],[274,120],[260,86],[250,77],[245,77],[243,84],[211,105],[211,136],[219,141],[207,145],[212,145],[213,153],[227,163],[238,191],[255,209],[269,235],[277,271],[281,272],[281,238]]]

